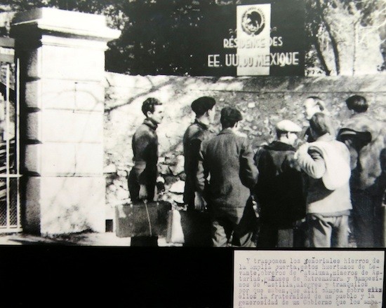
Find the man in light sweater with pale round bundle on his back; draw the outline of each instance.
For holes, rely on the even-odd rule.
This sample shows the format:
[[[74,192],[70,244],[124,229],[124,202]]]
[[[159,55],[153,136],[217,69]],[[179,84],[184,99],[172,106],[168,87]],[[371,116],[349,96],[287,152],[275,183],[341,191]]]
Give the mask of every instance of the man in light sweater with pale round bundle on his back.
[[[350,153],[329,133],[331,119],[315,113],[310,133],[316,140],[300,146],[295,158],[307,174],[307,224],[311,247],[347,247]]]

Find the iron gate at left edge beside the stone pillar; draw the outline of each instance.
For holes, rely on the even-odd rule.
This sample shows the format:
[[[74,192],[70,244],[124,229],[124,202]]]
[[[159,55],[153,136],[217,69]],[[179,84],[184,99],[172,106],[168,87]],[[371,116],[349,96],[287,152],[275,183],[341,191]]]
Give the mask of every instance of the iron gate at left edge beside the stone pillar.
[[[20,232],[20,71],[14,40],[0,38],[0,232]]]

